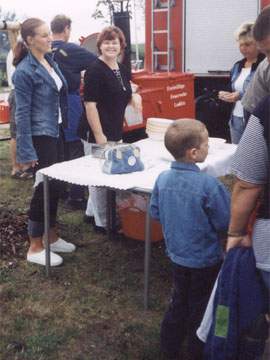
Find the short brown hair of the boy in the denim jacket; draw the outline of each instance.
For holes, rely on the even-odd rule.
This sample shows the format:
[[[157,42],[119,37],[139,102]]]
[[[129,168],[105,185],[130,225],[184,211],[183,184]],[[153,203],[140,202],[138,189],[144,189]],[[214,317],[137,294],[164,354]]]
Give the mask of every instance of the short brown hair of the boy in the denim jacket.
[[[183,159],[187,150],[200,147],[204,131],[205,125],[198,120],[175,120],[165,133],[165,146],[176,160]]]

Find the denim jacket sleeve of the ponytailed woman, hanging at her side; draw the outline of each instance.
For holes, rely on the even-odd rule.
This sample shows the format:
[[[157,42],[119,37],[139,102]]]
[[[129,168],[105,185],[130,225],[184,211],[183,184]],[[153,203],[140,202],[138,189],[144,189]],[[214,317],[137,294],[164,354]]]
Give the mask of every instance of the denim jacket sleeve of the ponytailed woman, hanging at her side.
[[[16,101],[17,161],[19,163],[26,163],[38,160],[33,146],[31,131],[31,107],[34,89],[31,78],[23,71],[15,71],[13,83]]]

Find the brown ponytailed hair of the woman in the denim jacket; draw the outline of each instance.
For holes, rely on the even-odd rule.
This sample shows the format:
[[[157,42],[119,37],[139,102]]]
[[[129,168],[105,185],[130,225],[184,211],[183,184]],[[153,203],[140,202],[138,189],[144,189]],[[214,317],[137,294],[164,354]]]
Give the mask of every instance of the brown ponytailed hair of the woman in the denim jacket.
[[[36,29],[45,22],[38,18],[29,18],[21,24],[21,36],[23,41],[18,41],[14,48],[13,65],[16,66],[28,54],[27,37],[35,36]]]

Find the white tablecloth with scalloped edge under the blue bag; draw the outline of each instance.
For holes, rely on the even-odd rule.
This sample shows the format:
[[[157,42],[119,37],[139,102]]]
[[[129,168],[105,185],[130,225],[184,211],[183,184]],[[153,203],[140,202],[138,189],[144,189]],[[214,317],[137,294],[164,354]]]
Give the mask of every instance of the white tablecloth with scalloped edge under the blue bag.
[[[136,144],[141,149],[141,158],[145,165],[144,171],[121,175],[107,175],[101,170],[103,160],[93,158],[92,156],[84,156],[76,160],[65,161],[41,169],[37,173],[37,182],[41,180],[43,174],[78,185],[106,186],[120,190],[141,188],[151,191],[160,172],[170,167],[172,157],[161,141],[144,139]],[[202,171],[206,171],[215,177],[229,174],[235,150],[236,145],[232,144],[210,145],[209,155],[198,166]]]

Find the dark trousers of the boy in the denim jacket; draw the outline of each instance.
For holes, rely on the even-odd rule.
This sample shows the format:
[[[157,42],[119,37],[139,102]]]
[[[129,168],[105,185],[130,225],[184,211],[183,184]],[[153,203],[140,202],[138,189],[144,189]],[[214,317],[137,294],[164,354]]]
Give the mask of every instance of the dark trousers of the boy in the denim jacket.
[[[202,360],[204,344],[197,338],[212,287],[221,264],[203,269],[173,264],[173,291],[161,324],[161,351],[176,358],[188,338],[188,359]]]

